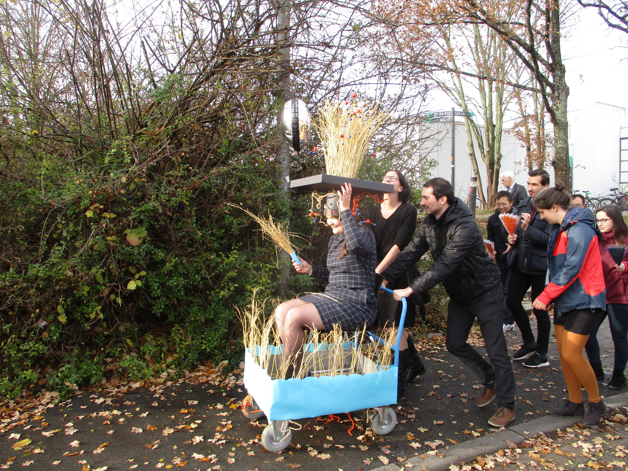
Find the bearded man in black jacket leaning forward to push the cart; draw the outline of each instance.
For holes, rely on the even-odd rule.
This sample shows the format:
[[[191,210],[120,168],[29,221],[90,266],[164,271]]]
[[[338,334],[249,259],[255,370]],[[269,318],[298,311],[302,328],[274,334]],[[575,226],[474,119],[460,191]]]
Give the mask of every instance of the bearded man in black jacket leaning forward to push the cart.
[[[423,185],[421,206],[427,217],[413,241],[383,273],[385,283],[398,278],[426,251],[434,264],[404,290],[394,290],[396,300],[424,293],[443,282],[450,296],[447,315],[447,350],[467,365],[484,384],[476,404],[489,404],[497,393],[497,413],[490,425],[506,426],[514,419],[514,374],[502,330],[503,294],[499,270],[487,254],[480,228],[465,203],[453,196],[444,178]],[[492,365],[471,345],[468,333],[475,318],[480,322]]]

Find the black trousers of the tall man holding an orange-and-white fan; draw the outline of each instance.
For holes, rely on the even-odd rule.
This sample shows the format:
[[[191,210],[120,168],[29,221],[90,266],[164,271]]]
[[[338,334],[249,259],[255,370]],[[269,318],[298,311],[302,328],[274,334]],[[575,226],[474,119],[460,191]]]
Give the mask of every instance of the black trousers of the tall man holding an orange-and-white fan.
[[[524,345],[532,347],[534,345],[534,333],[530,327],[530,320],[523,308],[522,301],[526,295],[528,288],[532,288],[532,300],[536,300],[536,296],[543,293],[545,289],[545,275],[530,275],[523,273],[518,268],[511,269],[508,278],[507,305],[512,312],[514,322],[521,330],[521,337]],[[549,333],[551,332],[551,322],[549,321],[548,311],[534,309],[536,316],[536,351],[540,354],[547,355],[549,345]]]

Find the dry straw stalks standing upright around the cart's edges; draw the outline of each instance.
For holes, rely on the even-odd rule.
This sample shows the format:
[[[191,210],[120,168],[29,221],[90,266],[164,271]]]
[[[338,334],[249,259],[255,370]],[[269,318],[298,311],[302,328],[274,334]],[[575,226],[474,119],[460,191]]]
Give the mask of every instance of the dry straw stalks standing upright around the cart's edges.
[[[271,377],[284,378],[291,362],[283,360],[274,314],[268,317],[264,314],[268,299],[260,301],[256,295],[257,288],[251,297],[251,305],[244,309],[236,307],[242,322],[244,346]],[[390,344],[394,341],[394,330],[383,332],[381,336]],[[380,369],[387,369],[394,361],[391,349],[374,345],[367,339],[366,328],[357,333],[347,333],[342,331],[340,325],[334,325],[330,332],[311,330],[301,353],[301,362],[295,372],[295,377],[301,379],[310,374],[317,377],[364,374],[364,364],[372,362],[373,368],[379,366]]]

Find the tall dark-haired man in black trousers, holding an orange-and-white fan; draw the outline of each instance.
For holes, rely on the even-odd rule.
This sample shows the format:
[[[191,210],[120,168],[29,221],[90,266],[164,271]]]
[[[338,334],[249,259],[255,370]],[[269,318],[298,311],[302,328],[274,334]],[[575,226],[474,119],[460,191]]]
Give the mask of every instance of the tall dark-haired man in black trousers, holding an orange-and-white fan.
[[[536,317],[536,341],[530,327],[528,313],[523,307],[523,298],[531,288],[532,300],[536,299],[545,287],[548,268],[547,248],[549,242],[549,224],[541,219],[534,205],[534,196],[549,186],[549,175],[542,169],[528,172],[528,193],[517,207],[521,222],[514,236],[508,236],[511,246],[508,252],[508,288],[506,304],[521,331],[523,345],[512,355],[514,360],[523,360],[529,368],[548,366],[549,333],[551,322],[547,311],[534,309]]]

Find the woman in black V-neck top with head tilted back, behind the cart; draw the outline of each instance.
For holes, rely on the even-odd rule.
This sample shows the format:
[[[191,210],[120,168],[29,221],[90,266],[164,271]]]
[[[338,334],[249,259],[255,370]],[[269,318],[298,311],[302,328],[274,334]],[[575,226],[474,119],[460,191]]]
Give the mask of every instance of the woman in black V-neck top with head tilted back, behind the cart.
[[[382,176],[382,183],[394,185],[393,193],[384,194],[384,201],[367,212],[367,219],[372,223],[377,244],[377,268],[375,273],[383,273],[397,259],[401,251],[406,248],[416,231],[416,208],[408,203],[410,187],[403,173],[389,170]],[[419,276],[419,270],[414,265],[409,271],[396,279],[387,287],[391,290],[408,288],[411,280]],[[408,298],[408,310],[404,325],[413,327],[416,315],[416,306],[423,308],[423,300],[414,295]],[[393,295],[379,293],[377,296],[377,313],[380,325],[386,328],[396,327],[401,316],[401,303],[395,301]],[[412,338],[404,329],[401,333],[399,347],[399,377],[398,394],[401,398],[406,382],[425,372],[425,365],[416,352]]]

